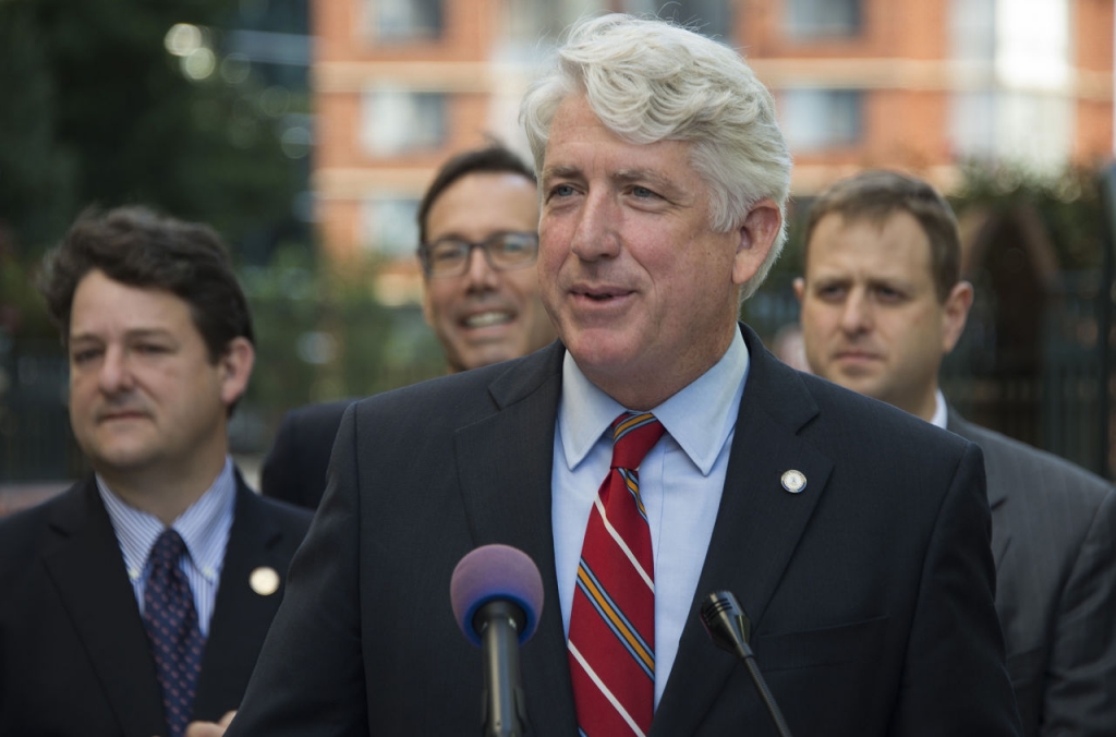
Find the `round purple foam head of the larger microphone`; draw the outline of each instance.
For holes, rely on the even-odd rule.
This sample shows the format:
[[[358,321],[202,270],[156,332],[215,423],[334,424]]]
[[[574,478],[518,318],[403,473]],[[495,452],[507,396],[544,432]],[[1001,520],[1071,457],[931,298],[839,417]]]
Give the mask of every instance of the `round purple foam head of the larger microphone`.
[[[535,561],[510,545],[483,545],[465,555],[453,570],[450,601],[458,626],[469,641],[480,645],[473,616],[491,601],[507,601],[523,611],[519,643],[531,639],[542,613],[542,576]]]

